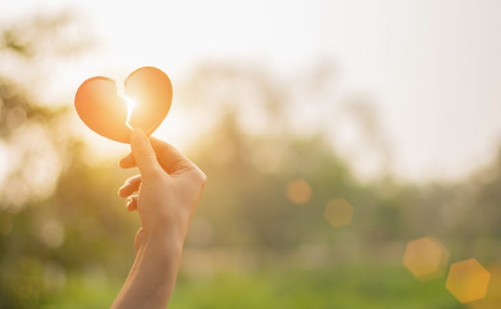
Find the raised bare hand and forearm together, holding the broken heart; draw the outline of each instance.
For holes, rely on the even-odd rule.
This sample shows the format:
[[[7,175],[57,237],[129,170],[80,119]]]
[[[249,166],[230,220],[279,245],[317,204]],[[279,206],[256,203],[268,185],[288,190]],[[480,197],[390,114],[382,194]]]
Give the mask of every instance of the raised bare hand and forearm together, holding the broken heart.
[[[137,167],[140,174],[127,179],[118,194],[127,197],[128,211],[138,211],[141,228],[135,261],[111,308],[165,308],[207,178],[176,148],[139,128],[132,131],[130,146],[132,152],[119,165]]]

